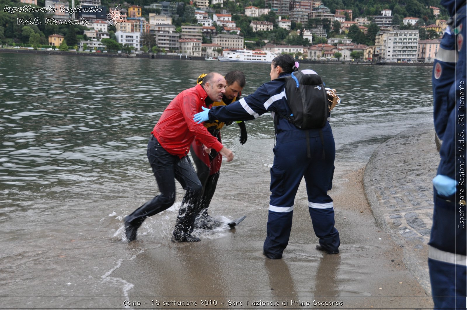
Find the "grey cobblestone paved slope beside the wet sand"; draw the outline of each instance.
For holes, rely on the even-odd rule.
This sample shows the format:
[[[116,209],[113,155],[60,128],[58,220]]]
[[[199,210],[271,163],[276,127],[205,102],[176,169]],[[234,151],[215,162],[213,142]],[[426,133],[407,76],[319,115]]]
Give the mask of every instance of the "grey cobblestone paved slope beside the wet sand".
[[[438,163],[434,128],[422,125],[382,143],[368,161],[363,178],[376,222],[403,248],[405,265],[429,295],[427,243],[432,227],[432,179]]]

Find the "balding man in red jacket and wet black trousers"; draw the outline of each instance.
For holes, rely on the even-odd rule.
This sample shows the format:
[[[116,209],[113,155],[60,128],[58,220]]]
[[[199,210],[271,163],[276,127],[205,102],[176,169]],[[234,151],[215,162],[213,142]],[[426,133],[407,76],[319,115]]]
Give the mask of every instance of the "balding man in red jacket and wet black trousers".
[[[175,179],[180,182],[186,193],[178,211],[172,241],[200,241],[199,238],[191,236],[195,216],[202,207],[200,196],[203,190],[188,157],[191,142],[196,138],[206,148],[213,148],[225,156],[227,162],[233,159],[233,153],[212,136],[203,124],[194,122],[193,116],[202,111],[202,106],[206,107],[212,101],[222,100],[226,92],[225,87],[225,78],[219,73],[211,72],[204,78],[203,85],[196,85],[179,93],[165,108],[151,132],[147,153],[161,193],[125,218],[125,235],[128,241],[136,239],[136,231],[145,218],[174,204]]]

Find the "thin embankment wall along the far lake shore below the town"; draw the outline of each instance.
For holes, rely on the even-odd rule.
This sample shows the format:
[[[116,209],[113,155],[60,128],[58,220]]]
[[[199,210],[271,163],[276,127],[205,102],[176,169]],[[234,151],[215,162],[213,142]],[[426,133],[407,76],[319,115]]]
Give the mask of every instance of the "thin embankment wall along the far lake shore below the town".
[[[67,55],[67,56],[94,56],[94,57],[122,57],[122,58],[149,58],[149,59],[179,59],[179,60],[205,60],[205,57],[197,56],[179,56],[179,55],[161,55],[153,53],[142,53],[133,54],[130,56],[127,53],[92,53],[92,52],[64,52],[59,50],[33,50],[33,49],[5,49],[0,48],[0,53],[10,54],[40,54],[40,55]],[[382,62],[365,62],[365,61],[335,61],[335,60],[305,60],[302,59],[300,62],[303,63],[319,63],[319,64],[346,64],[346,65],[371,65],[371,66],[415,66],[415,67],[426,67],[433,66],[433,63],[382,63]]]

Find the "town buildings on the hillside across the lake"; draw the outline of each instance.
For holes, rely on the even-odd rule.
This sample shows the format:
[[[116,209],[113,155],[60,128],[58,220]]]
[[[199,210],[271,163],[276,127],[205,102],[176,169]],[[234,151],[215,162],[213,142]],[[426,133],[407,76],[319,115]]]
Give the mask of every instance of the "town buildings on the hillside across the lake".
[[[20,1],[34,3],[36,0]],[[83,7],[86,5],[100,6],[100,0],[83,0],[81,2]],[[362,51],[364,53],[363,59],[367,61],[432,62],[439,48],[439,39],[419,41],[418,30],[394,28],[392,25],[394,16],[392,16],[393,12],[390,9],[383,9],[378,16],[369,16],[369,18],[361,16],[353,19],[352,10],[336,9],[331,12],[328,7],[323,5],[321,0],[265,0],[264,3],[267,8],[249,6],[244,9],[244,14],[250,18],[249,27],[253,32],[271,31],[276,27],[290,30],[293,23],[300,23],[303,28],[298,29],[298,33],[303,31],[303,38],[308,38],[312,42],[313,35],[326,38],[327,34],[322,26],[312,29],[306,28],[307,21],[310,18],[329,19],[332,23],[339,21],[341,25],[341,36],[328,39],[328,44],[314,44],[309,47],[285,45],[271,47],[270,43],[267,43],[268,40],[264,40],[267,44],[263,49],[269,49],[275,53],[292,53],[296,57],[309,59],[335,59],[334,54],[340,52],[342,55],[341,60],[348,60],[353,51]],[[85,18],[92,19],[88,29],[83,33],[87,39],[81,40],[78,47],[81,50],[85,46],[88,49],[105,49],[100,41],[111,38],[111,35],[113,35],[113,33],[109,33],[105,17],[106,11],[100,14],[77,13],[72,16],[60,9],[60,7],[69,8],[67,1],[45,0],[45,4],[57,8],[54,15],[54,18],[57,19],[69,20],[75,16],[76,18],[85,16]],[[149,13],[149,18],[148,15],[143,17],[143,7],[129,5],[122,9],[121,17],[123,21],[115,24],[115,37],[117,42],[131,46],[135,50],[141,50],[142,35],[150,34],[156,39],[156,46],[159,51],[187,56],[216,57],[221,55],[221,49],[244,48],[245,39],[242,29],[236,27],[232,14],[229,14],[227,9],[219,10],[219,6],[217,7],[218,10],[214,11],[212,7],[209,7],[212,4],[221,4],[221,2],[219,0],[193,0],[193,5],[198,7],[194,13],[195,22],[197,23],[184,24],[180,28],[172,25],[173,18],[177,18],[178,3],[162,1],[146,6],[145,8],[160,10],[158,14]],[[430,9],[435,16],[440,14],[439,8],[430,7]],[[278,15],[276,24],[259,20],[261,15],[268,14],[269,11],[273,11]],[[222,14],[215,12],[221,12]],[[366,33],[371,22],[375,22],[380,27],[374,46],[356,46],[352,43],[352,40],[342,37],[353,25],[357,25],[363,33]],[[424,20],[417,17],[405,17],[402,22],[404,25],[421,27],[420,23],[424,22]],[[447,21],[436,19],[435,24],[423,27],[426,31],[432,30],[442,35],[447,27]],[[202,44],[201,42],[205,39],[210,43]],[[49,44],[58,46],[63,40],[63,36],[51,35]]]

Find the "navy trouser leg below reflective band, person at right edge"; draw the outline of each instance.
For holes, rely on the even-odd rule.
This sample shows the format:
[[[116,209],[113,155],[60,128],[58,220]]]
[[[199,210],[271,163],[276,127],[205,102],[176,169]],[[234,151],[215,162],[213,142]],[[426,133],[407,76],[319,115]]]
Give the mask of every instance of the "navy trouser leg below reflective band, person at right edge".
[[[467,268],[428,258],[434,309],[466,309]]]

